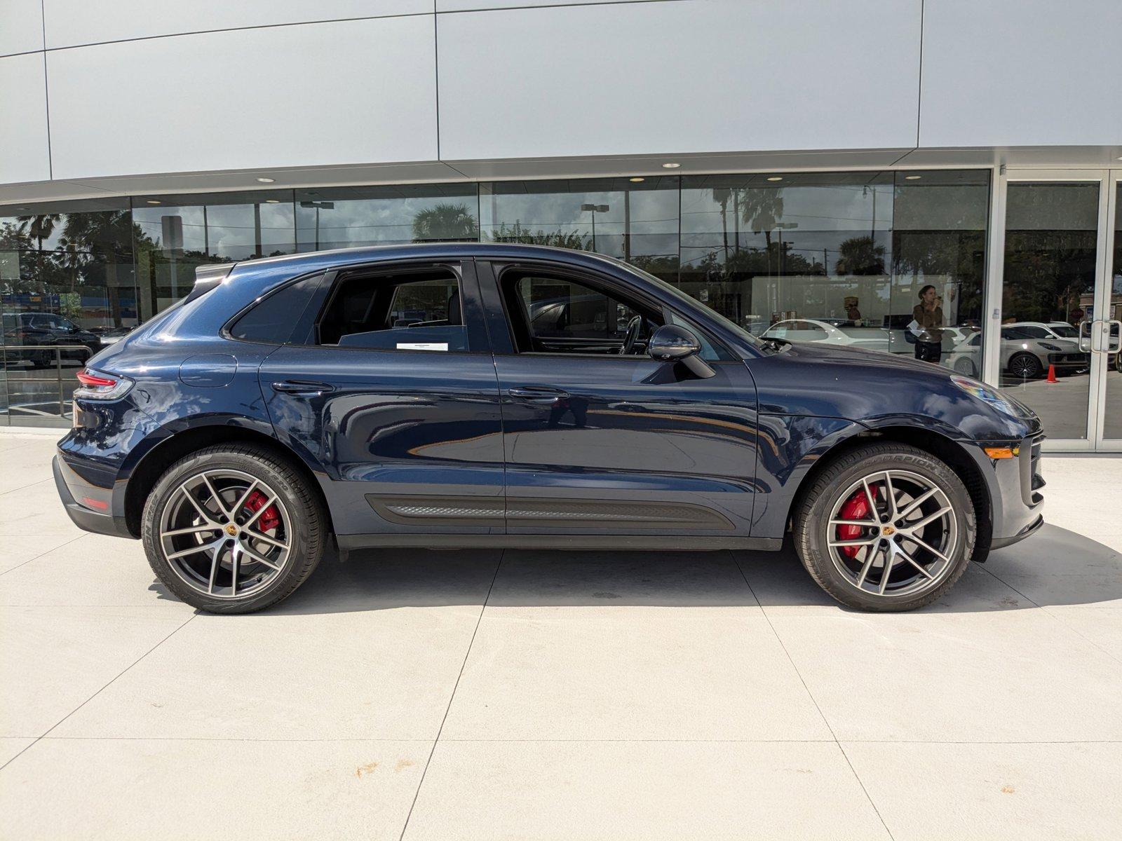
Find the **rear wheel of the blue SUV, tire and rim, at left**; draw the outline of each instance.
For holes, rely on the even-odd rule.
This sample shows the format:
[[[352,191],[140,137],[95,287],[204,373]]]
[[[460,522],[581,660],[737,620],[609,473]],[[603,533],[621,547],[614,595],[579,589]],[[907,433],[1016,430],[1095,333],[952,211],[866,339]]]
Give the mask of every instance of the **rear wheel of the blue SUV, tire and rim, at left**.
[[[300,586],[323,555],[325,518],[309,483],[269,451],[218,445],[181,459],[145,505],[159,580],[192,607],[248,613]]]

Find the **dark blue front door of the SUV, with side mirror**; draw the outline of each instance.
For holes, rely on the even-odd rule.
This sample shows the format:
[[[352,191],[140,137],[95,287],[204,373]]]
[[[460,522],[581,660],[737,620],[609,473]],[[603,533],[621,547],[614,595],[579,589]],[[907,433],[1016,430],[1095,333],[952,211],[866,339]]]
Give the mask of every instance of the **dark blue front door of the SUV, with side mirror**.
[[[756,412],[743,361],[703,335],[712,377],[654,361],[645,339],[673,314],[608,278],[480,264],[479,279],[508,534],[748,535]],[[620,354],[636,318],[634,352]]]

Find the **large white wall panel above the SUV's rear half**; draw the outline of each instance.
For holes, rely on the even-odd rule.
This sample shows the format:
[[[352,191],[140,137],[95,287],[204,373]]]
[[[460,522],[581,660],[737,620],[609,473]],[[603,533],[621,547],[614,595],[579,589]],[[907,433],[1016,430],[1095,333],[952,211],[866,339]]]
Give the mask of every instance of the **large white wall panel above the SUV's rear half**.
[[[431,16],[47,53],[56,178],[432,160]]]

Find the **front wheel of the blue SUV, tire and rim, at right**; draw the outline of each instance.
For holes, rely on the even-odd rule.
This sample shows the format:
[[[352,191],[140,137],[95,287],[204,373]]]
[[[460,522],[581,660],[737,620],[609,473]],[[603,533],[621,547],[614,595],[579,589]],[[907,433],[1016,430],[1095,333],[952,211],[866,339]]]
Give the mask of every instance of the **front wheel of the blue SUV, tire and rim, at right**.
[[[974,505],[947,464],[907,444],[853,450],[815,480],[794,520],[803,566],[861,610],[929,604],[965,572]]]

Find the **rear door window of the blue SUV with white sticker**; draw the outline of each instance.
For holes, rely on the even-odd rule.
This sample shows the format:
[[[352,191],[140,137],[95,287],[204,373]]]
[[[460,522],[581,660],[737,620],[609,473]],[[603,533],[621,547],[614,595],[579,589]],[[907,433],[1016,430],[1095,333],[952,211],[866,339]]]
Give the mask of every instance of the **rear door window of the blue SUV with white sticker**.
[[[460,279],[451,269],[343,276],[319,324],[319,344],[466,351]]]

